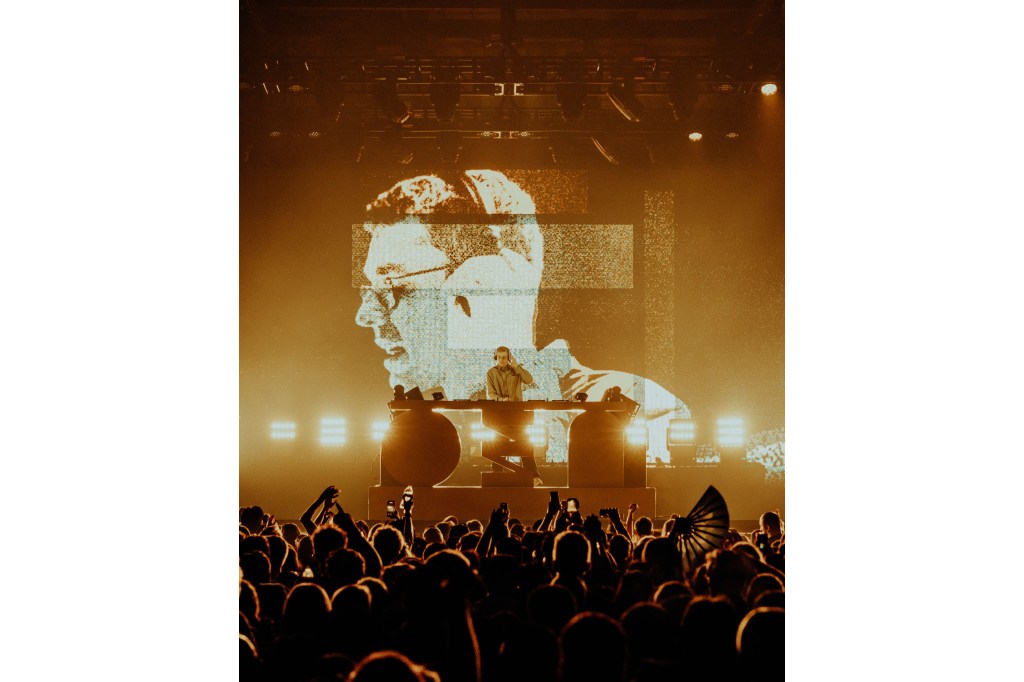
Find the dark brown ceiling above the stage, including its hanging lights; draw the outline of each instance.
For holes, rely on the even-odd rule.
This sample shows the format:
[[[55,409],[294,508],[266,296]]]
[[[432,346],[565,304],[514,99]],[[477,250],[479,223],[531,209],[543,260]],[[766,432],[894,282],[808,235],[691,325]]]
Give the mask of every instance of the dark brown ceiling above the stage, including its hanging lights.
[[[783,61],[780,0],[243,0],[243,159],[284,143],[354,160],[417,139],[749,137],[761,86],[782,96]]]

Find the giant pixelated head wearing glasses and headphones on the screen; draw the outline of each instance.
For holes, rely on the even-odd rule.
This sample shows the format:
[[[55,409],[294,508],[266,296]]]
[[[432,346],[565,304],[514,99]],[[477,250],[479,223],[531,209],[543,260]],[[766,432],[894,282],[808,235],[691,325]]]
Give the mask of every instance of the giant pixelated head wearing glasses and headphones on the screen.
[[[543,238],[532,200],[517,184],[497,171],[451,181],[421,175],[394,184],[367,211],[369,285],[356,323],[373,329],[387,353],[392,386],[447,383],[459,394],[453,376],[477,356],[532,344]],[[467,219],[474,217],[479,222]]]

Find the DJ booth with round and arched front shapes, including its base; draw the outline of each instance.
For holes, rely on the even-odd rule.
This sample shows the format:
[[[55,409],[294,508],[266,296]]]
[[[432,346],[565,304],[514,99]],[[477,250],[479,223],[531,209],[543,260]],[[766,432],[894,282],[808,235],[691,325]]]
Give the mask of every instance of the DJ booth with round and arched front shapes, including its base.
[[[632,502],[654,509],[655,492],[647,487],[646,445],[631,444],[626,437],[635,402],[404,399],[388,408],[391,424],[381,442],[380,484],[370,488],[368,518],[380,518],[387,501],[400,500],[407,485],[415,489],[414,515],[428,520],[449,514],[486,519],[501,502],[509,504],[513,516],[540,518],[553,489],[563,499],[580,498],[585,513],[618,507],[625,515]],[[545,486],[539,474],[529,432],[538,412],[570,420],[565,487]],[[493,433],[480,441],[492,471],[481,472],[479,486],[444,485],[463,451],[452,419],[475,419],[468,413],[478,413],[482,428]]]

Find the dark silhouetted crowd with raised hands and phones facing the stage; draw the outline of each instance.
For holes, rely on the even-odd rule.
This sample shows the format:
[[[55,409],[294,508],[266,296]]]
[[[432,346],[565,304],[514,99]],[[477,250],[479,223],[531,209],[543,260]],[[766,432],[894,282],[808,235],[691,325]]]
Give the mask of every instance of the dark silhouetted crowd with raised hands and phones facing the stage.
[[[675,518],[636,505],[584,516],[553,496],[534,521],[502,505],[418,532],[412,494],[374,524],[337,500],[327,487],[300,524],[240,510],[241,680],[783,678],[776,512],[686,569]]]

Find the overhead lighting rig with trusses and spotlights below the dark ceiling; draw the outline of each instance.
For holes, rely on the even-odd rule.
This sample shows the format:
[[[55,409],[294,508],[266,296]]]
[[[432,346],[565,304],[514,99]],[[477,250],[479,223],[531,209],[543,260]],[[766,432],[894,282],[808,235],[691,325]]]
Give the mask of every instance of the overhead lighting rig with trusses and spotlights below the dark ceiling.
[[[247,151],[270,143],[272,132],[279,150],[302,139],[347,154],[350,141],[353,150],[367,150],[353,152],[360,159],[387,148],[407,164],[411,155],[394,143],[396,128],[417,150],[417,163],[435,154],[444,163],[473,158],[472,140],[543,142],[566,133],[581,150],[569,155],[551,145],[558,165],[566,156],[592,164],[633,166],[637,156],[649,157],[647,165],[673,163],[651,140],[670,139],[681,148],[694,131],[703,144],[721,140],[737,148],[737,139],[754,139],[752,117],[763,100],[781,96],[765,97],[761,86],[774,83],[781,93],[783,71],[778,62],[727,69],[710,57],[265,57],[245,63],[240,120]],[[291,87],[296,84],[301,91]],[[456,141],[440,143],[446,132],[456,133]],[[645,145],[650,153],[642,155]]]

